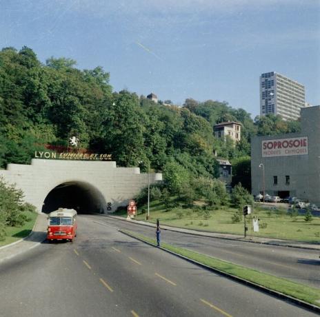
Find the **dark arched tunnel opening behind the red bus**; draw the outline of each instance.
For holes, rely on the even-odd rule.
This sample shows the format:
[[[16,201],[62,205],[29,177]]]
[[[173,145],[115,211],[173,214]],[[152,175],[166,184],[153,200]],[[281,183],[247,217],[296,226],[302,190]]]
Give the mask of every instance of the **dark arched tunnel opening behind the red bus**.
[[[61,183],[49,192],[42,212],[48,214],[59,207],[72,208],[78,214],[103,213],[106,201],[92,185],[83,182]]]

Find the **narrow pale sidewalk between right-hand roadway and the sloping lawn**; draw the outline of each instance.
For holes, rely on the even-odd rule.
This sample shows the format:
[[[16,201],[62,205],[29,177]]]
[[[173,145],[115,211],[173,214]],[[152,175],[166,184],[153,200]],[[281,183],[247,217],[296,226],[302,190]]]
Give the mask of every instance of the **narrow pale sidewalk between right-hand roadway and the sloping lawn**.
[[[122,221],[127,221],[126,218],[123,218],[121,216],[111,216],[111,215],[106,215],[106,216],[110,218],[117,218]],[[137,221],[137,220],[131,219],[130,222],[134,224],[139,224],[139,225],[146,225],[148,227],[156,227],[154,223],[148,223],[146,221]],[[262,237],[255,237],[255,236],[247,236],[247,238],[243,238],[243,235],[239,235],[239,234],[219,234],[217,232],[203,232],[203,231],[192,230],[192,229],[171,227],[169,225],[161,225],[161,229],[170,230],[172,232],[183,232],[186,234],[193,234],[196,236],[208,236],[211,238],[221,238],[221,239],[236,240],[236,241],[243,241],[243,242],[249,242],[249,243],[261,243],[265,245],[278,245],[281,247],[297,247],[300,249],[315,249],[320,251],[320,243],[305,243],[300,241],[289,241],[289,240],[262,238]]]

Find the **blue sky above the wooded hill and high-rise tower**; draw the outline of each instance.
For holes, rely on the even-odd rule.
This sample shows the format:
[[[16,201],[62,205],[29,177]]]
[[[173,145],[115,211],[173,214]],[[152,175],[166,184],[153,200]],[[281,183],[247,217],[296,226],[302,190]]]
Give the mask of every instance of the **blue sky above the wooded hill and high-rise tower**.
[[[0,0],[0,49],[102,66],[114,91],[259,115],[259,75],[279,72],[320,105],[320,0]]]

